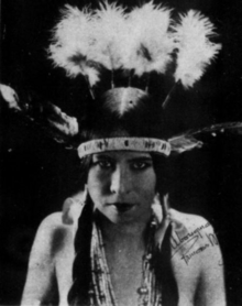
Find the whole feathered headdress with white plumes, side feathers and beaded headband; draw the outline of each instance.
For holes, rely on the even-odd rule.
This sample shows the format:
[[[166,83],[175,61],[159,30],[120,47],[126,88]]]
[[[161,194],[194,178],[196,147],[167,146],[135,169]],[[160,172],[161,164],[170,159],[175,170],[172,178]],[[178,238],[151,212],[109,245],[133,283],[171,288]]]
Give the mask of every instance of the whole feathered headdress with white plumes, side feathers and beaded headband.
[[[141,89],[144,88],[132,88],[134,78],[145,76],[147,94],[151,94],[148,76],[152,73],[156,74],[157,80],[161,79],[161,86],[162,76],[172,76],[174,86],[182,84],[186,89],[191,88],[221,50],[220,44],[211,41],[213,36],[215,26],[200,12],[190,10],[173,18],[170,9],[156,6],[153,1],[131,11],[107,1],[97,10],[85,8],[80,11],[66,6],[61,21],[53,30],[48,57],[55,66],[64,68],[69,77],[82,75],[94,99],[96,88],[100,87],[103,76],[109,72],[108,91],[116,92],[116,99],[110,96],[106,102],[111,112],[117,112],[121,118],[141,103]],[[118,88],[120,75],[125,84]],[[166,92],[163,108],[169,100],[172,88]],[[73,139],[81,130],[75,118],[50,102],[19,101],[14,90],[3,85],[0,86],[0,92],[10,108],[24,113],[31,122],[44,124],[45,131],[48,130],[57,141],[74,143]],[[241,134],[242,123],[215,124],[166,141],[135,138],[92,141],[79,146],[78,153],[84,156],[88,152],[102,150],[102,146],[107,150],[129,150],[131,145],[135,150],[153,150],[168,155],[170,152],[182,153],[200,147],[200,134],[224,130]],[[76,149],[77,144],[73,147]]]

